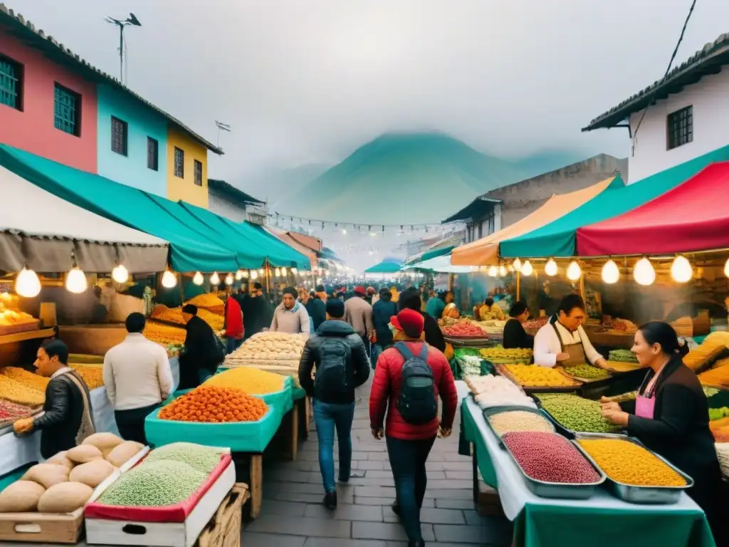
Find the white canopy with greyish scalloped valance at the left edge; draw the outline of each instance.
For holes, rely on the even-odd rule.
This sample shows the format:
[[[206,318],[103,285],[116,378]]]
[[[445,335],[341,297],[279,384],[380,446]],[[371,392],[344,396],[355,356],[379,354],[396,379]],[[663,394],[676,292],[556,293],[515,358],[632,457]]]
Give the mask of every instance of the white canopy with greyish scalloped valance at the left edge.
[[[130,273],[163,271],[166,241],[65,201],[0,166],[0,270],[90,273],[123,263]]]

